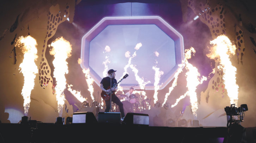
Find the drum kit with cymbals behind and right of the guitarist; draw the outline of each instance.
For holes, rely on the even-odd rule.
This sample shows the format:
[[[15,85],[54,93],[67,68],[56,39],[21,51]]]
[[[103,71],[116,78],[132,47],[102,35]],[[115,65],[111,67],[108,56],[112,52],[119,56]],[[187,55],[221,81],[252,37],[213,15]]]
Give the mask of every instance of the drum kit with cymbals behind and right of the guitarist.
[[[116,94],[116,96],[123,103],[124,113],[128,112],[132,113],[140,113],[144,110],[149,110],[150,107],[150,99],[145,99],[145,95],[142,95],[142,91],[145,89],[135,89],[135,91],[141,91],[140,93],[131,94],[129,97],[123,94]],[[112,103],[112,111],[120,112],[118,105]]]

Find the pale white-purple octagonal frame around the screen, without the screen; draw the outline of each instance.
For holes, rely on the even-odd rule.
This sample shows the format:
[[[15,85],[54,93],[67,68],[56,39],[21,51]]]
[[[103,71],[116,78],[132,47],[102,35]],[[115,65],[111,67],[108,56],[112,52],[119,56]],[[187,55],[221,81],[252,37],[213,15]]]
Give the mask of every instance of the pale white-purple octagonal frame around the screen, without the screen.
[[[125,16],[125,17],[104,17],[100,20],[95,26],[93,26],[89,32],[87,32],[82,38],[81,44],[81,68],[82,69],[90,69],[90,76],[94,79],[94,81],[100,85],[100,81],[102,80],[99,75],[96,74],[94,70],[89,66],[89,50],[90,50],[90,41],[95,38],[104,28],[108,25],[132,25],[132,24],[154,24],[159,27],[163,32],[168,35],[175,43],[175,57],[176,57],[176,65],[172,68],[172,70],[167,73],[166,77],[168,77],[160,89],[163,89],[174,77],[178,69],[178,64],[182,63],[184,60],[184,44],[182,35],[171,25],[169,25],[166,21],[164,21],[160,16]],[[135,83],[136,84],[136,83]],[[123,89],[129,89],[130,85],[121,84]],[[134,87],[135,89],[139,89],[140,87]],[[147,90],[154,90],[154,86],[145,87]],[[160,90],[159,89],[159,90]]]

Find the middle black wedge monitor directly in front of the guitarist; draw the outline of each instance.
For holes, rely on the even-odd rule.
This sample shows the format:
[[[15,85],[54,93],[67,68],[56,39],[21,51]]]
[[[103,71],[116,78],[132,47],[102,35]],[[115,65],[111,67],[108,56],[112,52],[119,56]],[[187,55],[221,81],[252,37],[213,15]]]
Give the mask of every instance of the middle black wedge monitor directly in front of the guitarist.
[[[120,112],[99,112],[98,123],[121,124]]]

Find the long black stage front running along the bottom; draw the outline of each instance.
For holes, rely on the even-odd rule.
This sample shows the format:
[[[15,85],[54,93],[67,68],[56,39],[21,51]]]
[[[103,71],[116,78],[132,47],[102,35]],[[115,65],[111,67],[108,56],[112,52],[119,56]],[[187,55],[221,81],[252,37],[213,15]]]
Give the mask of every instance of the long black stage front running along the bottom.
[[[1,142],[173,142],[222,143],[226,127],[151,127],[123,126],[121,124],[67,124],[37,123],[31,129],[25,124],[0,124]]]

